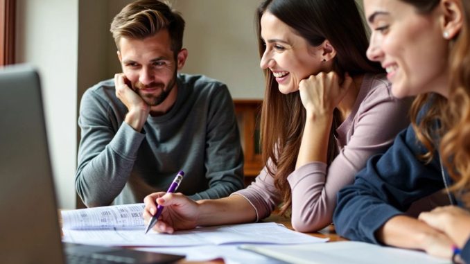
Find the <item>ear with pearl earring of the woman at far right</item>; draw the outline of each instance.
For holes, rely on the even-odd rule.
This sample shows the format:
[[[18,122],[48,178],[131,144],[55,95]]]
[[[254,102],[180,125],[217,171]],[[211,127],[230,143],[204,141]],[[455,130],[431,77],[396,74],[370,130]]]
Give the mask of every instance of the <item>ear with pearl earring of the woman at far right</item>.
[[[469,0],[463,0],[469,1]],[[460,0],[441,0],[442,10],[440,24],[445,39],[453,39],[458,35],[464,24],[464,10]]]

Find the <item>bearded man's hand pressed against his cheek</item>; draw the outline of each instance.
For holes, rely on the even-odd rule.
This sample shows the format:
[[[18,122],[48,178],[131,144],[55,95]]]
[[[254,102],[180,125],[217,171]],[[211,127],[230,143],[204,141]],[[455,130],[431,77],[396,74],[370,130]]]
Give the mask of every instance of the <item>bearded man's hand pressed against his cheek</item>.
[[[114,75],[114,85],[116,96],[128,107],[128,114],[125,115],[125,123],[128,123],[135,131],[140,132],[150,113],[150,106],[126,83],[124,73]]]

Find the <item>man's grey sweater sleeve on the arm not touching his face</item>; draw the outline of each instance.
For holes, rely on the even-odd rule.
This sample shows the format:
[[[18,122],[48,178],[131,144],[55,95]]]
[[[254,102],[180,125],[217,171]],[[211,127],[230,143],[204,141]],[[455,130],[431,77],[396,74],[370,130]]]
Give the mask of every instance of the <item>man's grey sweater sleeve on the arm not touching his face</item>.
[[[209,188],[193,200],[227,197],[243,188],[243,152],[232,97],[225,85],[210,98],[204,166]]]

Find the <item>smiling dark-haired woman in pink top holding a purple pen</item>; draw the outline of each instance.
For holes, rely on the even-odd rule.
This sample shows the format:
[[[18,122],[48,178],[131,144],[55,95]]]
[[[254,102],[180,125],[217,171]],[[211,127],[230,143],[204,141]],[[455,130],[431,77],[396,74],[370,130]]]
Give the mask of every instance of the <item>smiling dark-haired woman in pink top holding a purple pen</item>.
[[[367,60],[354,0],[267,0],[256,14],[266,166],[253,184],[218,200],[148,195],[146,220],[165,206],[156,231],[253,222],[280,204],[296,230],[322,229],[340,188],[409,123],[410,102],[394,98],[383,69]]]

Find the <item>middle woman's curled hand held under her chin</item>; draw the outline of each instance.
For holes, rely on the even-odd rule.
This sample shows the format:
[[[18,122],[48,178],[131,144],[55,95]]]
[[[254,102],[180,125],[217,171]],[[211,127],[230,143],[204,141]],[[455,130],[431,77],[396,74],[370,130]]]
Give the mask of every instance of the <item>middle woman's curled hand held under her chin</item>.
[[[346,74],[340,85],[338,74],[320,72],[299,82],[299,93],[307,115],[331,116],[333,110],[345,97],[352,78]]]

